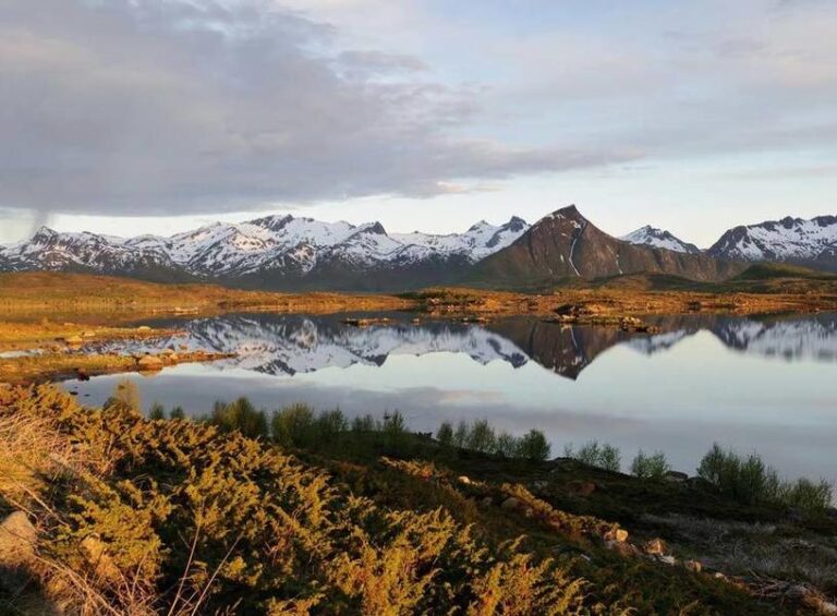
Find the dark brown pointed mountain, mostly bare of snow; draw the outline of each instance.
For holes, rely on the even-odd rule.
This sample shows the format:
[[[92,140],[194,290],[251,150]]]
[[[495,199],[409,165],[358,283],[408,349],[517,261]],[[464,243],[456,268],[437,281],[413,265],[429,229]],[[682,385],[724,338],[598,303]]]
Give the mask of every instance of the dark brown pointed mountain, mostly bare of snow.
[[[744,266],[701,254],[638,246],[596,228],[575,206],[533,225],[510,246],[480,262],[474,281],[498,286],[548,285],[567,278],[670,274],[691,280],[723,280]]]

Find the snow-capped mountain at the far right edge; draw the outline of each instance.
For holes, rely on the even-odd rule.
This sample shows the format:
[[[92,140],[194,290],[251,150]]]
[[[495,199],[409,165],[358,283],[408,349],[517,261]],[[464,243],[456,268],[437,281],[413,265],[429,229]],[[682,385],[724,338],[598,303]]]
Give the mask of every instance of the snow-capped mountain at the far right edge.
[[[837,216],[783,218],[735,227],[708,254],[735,261],[788,262],[837,269]]]

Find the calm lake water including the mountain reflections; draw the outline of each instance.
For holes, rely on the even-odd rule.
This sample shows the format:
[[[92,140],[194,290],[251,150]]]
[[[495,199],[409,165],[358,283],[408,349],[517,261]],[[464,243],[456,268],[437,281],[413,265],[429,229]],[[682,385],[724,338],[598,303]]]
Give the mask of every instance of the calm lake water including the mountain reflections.
[[[544,431],[554,455],[596,438],[664,450],[693,473],[718,442],[759,451],[789,478],[837,482],[837,315],[653,316],[654,335],[513,317],[487,325],[413,322],[344,325],[341,316],[238,314],[146,322],[184,330],[165,345],[234,352],[210,364],[131,375],[147,408],[190,414],[248,397],[268,409],[305,401],[353,416],[399,410],[416,431],[487,419]],[[138,343],[98,350],[135,352]],[[68,382],[100,404],[124,375]]]

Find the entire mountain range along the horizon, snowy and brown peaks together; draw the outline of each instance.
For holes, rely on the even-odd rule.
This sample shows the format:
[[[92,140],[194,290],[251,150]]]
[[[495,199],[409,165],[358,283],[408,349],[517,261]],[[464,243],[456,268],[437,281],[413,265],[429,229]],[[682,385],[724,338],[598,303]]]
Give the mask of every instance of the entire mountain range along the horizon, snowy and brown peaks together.
[[[706,251],[651,226],[615,238],[575,206],[531,226],[512,217],[500,226],[480,221],[450,234],[388,233],[379,222],[268,216],[170,237],[118,238],[41,227],[26,241],[0,246],[0,270],[7,271],[88,271],[281,290],[509,287],[640,273],[718,281],[757,261],[837,271],[837,217],[736,227]]]

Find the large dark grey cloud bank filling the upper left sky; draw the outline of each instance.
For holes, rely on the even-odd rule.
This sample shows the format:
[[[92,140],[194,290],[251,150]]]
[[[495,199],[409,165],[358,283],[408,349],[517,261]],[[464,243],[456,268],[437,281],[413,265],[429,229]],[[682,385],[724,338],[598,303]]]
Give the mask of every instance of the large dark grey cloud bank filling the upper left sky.
[[[427,196],[638,156],[464,140],[478,92],[402,78],[425,73],[408,57],[332,51],[333,28],[267,2],[7,0],[2,12],[7,207],[170,215]]]

